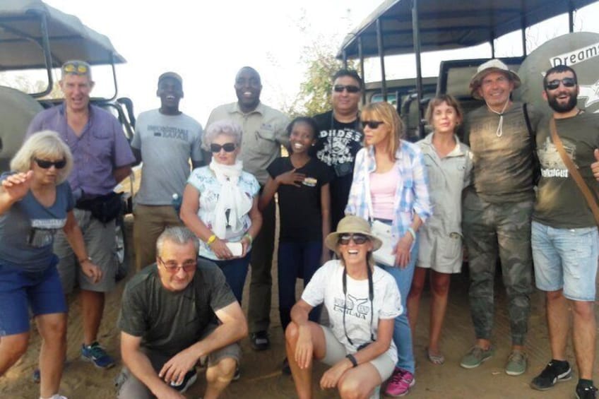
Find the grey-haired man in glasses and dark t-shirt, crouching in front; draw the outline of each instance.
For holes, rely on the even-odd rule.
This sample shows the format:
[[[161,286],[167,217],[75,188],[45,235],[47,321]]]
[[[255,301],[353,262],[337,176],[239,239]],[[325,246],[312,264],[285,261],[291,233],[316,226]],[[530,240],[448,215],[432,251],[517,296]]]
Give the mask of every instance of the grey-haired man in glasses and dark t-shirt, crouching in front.
[[[168,227],[156,242],[156,263],[127,283],[119,399],[184,399],[198,363],[208,366],[203,398],[218,398],[232,381],[247,322],[223,272],[198,260],[198,250],[193,232]]]

